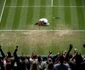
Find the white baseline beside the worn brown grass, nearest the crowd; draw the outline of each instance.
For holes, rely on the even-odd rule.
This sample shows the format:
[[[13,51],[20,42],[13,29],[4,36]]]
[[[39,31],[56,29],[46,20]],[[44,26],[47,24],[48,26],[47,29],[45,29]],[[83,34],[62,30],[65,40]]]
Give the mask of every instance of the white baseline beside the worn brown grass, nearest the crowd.
[[[49,31],[72,31],[72,32],[85,32],[85,30],[0,30],[0,32],[29,32],[29,31],[38,31],[38,32],[49,32]]]

